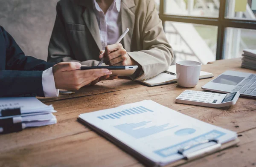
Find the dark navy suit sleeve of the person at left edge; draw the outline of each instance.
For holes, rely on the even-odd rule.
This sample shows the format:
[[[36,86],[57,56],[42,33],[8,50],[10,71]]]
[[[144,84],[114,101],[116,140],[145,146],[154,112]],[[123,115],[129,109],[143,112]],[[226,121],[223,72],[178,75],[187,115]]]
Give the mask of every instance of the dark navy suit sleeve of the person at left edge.
[[[5,44],[5,48],[1,49],[6,50],[6,55],[0,55],[6,56],[5,68],[0,70],[0,97],[44,97],[42,73],[53,64],[25,56],[12,36],[2,27],[0,27],[0,38],[2,38],[0,41]]]

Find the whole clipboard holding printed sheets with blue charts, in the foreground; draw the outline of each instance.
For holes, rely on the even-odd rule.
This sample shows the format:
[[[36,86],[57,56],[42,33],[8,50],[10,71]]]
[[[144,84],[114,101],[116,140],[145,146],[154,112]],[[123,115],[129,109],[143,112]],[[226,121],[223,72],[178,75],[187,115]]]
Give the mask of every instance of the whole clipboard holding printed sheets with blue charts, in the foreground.
[[[79,120],[148,166],[186,163],[238,142],[236,132],[151,100],[81,114]]]

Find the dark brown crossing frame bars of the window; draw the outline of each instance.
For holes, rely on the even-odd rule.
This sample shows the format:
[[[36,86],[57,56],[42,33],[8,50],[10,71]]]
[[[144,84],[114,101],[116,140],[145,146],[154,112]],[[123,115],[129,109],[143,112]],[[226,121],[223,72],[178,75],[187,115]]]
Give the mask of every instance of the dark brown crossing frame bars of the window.
[[[245,19],[229,19],[226,17],[228,0],[220,0],[219,17],[196,17],[196,16],[182,16],[165,14],[166,0],[160,0],[159,17],[163,22],[163,27],[166,21],[174,21],[181,23],[203,24],[218,27],[216,60],[224,59],[225,39],[227,27],[254,29],[256,30],[256,20]]]

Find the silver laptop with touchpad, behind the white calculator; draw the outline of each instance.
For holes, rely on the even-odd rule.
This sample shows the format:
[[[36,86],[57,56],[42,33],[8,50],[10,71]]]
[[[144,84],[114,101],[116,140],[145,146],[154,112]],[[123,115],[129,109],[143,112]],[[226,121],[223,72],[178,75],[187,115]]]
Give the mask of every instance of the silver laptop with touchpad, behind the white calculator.
[[[256,74],[226,71],[208,82],[202,89],[213,92],[240,92],[241,96],[256,98]]]

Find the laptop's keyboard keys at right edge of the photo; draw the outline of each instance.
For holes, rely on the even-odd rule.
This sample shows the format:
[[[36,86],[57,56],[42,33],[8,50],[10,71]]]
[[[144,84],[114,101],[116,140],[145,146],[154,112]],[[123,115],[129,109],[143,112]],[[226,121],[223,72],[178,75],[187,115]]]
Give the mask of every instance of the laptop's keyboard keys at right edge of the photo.
[[[240,93],[256,96],[256,75],[250,75],[244,81],[239,83],[239,85],[236,86],[235,89],[232,90],[232,92],[237,91],[239,91]]]

